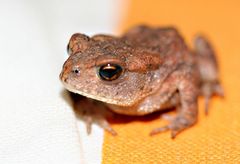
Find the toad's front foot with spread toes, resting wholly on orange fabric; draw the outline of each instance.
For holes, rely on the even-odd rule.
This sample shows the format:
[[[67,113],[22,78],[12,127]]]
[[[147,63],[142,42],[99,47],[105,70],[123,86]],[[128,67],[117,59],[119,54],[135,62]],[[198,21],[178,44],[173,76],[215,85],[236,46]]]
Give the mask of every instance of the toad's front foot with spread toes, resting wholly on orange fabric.
[[[172,139],[174,139],[179,132],[181,132],[184,129],[187,129],[196,122],[196,119],[194,117],[187,117],[182,114],[179,114],[176,117],[165,114],[162,116],[162,118],[168,120],[170,123],[166,126],[153,129],[150,133],[151,136],[170,130],[171,137]]]

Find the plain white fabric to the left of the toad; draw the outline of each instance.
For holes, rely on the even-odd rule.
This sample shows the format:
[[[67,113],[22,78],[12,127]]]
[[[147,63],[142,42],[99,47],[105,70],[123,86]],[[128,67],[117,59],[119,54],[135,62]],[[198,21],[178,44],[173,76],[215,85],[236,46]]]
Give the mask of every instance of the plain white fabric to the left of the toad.
[[[103,131],[86,135],[58,75],[71,34],[112,31],[116,2],[0,1],[1,164],[101,162]]]

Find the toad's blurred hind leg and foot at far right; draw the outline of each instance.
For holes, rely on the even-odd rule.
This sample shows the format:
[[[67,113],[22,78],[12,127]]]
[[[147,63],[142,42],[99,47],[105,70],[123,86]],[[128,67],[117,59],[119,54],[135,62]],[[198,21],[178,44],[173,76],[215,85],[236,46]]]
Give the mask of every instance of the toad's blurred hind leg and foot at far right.
[[[197,36],[194,45],[201,77],[201,94],[205,98],[205,114],[208,114],[211,97],[214,95],[224,96],[223,88],[219,82],[217,58],[212,45],[203,36]]]

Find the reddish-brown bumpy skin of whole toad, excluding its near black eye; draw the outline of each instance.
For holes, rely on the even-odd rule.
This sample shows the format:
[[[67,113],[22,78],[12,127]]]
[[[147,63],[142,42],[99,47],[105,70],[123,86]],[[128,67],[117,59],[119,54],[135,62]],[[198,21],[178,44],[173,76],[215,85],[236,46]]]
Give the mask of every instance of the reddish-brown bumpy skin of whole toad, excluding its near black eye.
[[[125,115],[146,115],[177,107],[176,117],[165,115],[169,124],[150,134],[171,130],[172,138],[197,121],[197,98],[223,96],[218,66],[207,40],[195,39],[195,50],[185,45],[172,27],[136,26],[121,37],[74,34],[68,45],[69,58],[60,79],[66,89],[88,99],[75,99],[82,108],[87,129],[95,120],[112,134],[116,132],[100,114],[100,104]],[[114,80],[103,80],[100,69],[108,64],[122,68]],[[90,121],[89,121],[90,120]],[[99,121],[100,120],[100,121]]]

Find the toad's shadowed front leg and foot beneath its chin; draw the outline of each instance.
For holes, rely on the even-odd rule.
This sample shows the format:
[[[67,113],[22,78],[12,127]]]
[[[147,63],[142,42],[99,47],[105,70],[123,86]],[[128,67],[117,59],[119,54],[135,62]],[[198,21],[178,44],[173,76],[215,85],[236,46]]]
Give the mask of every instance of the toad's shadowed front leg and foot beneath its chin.
[[[106,119],[112,117],[113,114],[102,104],[78,96],[74,98],[74,109],[77,116],[85,122],[87,134],[91,134],[92,124],[95,123],[113,136],[117,135]]]

